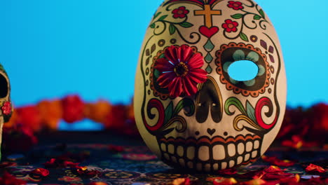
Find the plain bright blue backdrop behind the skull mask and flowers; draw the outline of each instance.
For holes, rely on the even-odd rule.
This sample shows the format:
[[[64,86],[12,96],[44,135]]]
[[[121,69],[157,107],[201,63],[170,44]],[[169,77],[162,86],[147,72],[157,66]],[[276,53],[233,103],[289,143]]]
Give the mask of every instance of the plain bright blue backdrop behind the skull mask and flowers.
[[[0,1],[0,62],[16,107],[77,93],[130,103],[146,27],[160,0]],[[328,102],[327,0],[258,0],[280,36],[287,104]],[[122,74],[124,76],[122,76]],[[99,129],[88,121],[62,129]]]

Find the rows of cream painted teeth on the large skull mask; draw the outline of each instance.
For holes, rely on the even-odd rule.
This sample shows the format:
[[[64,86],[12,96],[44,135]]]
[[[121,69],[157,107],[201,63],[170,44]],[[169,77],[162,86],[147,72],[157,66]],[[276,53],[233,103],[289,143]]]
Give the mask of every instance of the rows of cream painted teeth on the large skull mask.
[[[210,172],[224,170],[235,165],[245,165],[259,157],[260,139],[237,140],[229,144],[187,144],[160,143],[163,158],[168,163]]]

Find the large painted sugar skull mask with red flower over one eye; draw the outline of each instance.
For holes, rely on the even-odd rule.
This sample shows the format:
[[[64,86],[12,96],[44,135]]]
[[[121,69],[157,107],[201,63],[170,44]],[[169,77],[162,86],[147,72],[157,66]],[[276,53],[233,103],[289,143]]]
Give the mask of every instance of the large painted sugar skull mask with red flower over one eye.
[[[248,60],[257,75],[228,72]],[[200,172],[249,165],[285,112],[278,36],[251,0],[167,0],[146,31],[135,79],[135,118],[165,163]]]

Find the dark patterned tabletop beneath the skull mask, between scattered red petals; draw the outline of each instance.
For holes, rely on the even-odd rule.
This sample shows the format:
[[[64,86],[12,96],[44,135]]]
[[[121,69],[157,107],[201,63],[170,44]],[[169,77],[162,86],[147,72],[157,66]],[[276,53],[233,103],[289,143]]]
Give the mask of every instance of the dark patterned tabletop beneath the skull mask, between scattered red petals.
[[[109,145],[122,146],[109,149]],[[117,151],[118,150],[118,151]],[[102,181],[107,184],[170,184],[179,177],[197,180],[198,184],[212,184],[214,177],[235,177],[238,181],[250,179],[240,178],[238,174],[268,167],[271,164],[259,159],[252,165],[238,170],[238,174],[190,174],[175,170],[162,163],[147,149],[140,137],[117,135],[113,132],[51,132],[39,135],[39,144],[23,157],[3,152],[0,174],[9,172],[28,184],[89,184]],[[302,149],[299,151],[273,144],[265,153],[281,159],[296,160],[290,167],[280,167],[285,172],[299,174],[301,181],[310,178],[311,173],[305,167],[313,163],[328,168],[328,151],[323,149]],[[51,158],[79,163],[86,166],[90,173],[79,173],[76,167],[45,166]],[[58,161],[58,160],[57,160]],[[41,177],[32,173],[36,168],[46,168],[49,174]],[[327,172],[316,174],[328,177]]]

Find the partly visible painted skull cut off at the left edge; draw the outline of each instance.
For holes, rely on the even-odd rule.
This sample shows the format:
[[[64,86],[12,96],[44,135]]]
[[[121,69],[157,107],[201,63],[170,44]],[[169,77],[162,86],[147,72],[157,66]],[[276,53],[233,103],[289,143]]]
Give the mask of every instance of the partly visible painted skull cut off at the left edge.
[[[13,113],[13,106],[11,104],[11,85],[4,67],[0,64],[0,145],[2,139],[2,126],[9,121]],[[0,153],[1,159],[1,153]]]

